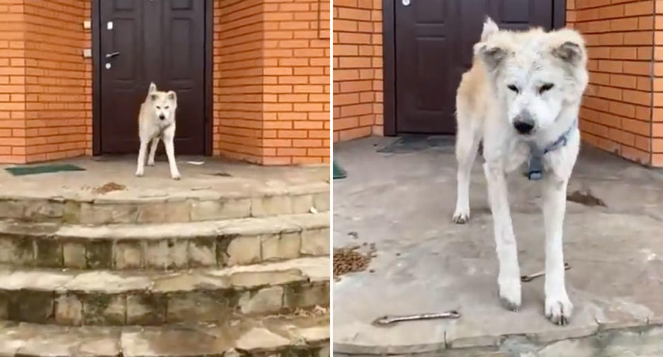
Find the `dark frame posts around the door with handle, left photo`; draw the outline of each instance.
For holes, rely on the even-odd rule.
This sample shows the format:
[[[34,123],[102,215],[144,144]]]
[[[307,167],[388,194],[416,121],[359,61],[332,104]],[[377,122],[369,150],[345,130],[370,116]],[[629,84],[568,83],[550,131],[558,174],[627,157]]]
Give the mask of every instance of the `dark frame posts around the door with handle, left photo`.
[[[101,48],[101,1],[92,1],[92,155],[102,155],[102,48]],[[108,0],[106,0],[108,1]],[[200,1],[200,0],[197,0]],[[204,153],[212,155],[212,68],[214,39],[213,0],[205,1],[205,40],[204,40]],[[133,113],[138,115],[138,113]],[[137,120],[137,119],[136,119]]]

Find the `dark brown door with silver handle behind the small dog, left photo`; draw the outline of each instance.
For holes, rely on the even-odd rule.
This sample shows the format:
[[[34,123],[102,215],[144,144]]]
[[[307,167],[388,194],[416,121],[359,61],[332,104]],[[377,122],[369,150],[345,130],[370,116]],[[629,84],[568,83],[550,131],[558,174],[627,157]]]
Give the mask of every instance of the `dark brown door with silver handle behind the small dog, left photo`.
[[[99,2],[102,153],[137,153],[138,112],[153,81],[177,92],[175,153],[204,154],[205,1]]]

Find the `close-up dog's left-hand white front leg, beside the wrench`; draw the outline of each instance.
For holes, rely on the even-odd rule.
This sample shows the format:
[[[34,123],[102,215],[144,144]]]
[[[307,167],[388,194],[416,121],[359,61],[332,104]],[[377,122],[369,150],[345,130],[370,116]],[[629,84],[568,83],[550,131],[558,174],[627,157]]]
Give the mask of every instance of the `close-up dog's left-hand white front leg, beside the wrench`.
[[[518,249],[511,224],[509,200],[504,168],[501,164],[486,162],[483,172],[488,182],[488,197],[495,235],[495,248],[499,260],[499,298],[502,305],[516,311],[520,307],[520,267]]]

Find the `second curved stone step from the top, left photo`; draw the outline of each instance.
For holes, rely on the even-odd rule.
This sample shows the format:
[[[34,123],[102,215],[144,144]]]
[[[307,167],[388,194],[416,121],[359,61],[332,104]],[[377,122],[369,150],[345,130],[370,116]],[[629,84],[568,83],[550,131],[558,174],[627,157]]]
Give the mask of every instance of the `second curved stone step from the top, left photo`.
[[[72,269],[227,267],[329,255],[329,213],[189,223],[0,221],[0,264]]]

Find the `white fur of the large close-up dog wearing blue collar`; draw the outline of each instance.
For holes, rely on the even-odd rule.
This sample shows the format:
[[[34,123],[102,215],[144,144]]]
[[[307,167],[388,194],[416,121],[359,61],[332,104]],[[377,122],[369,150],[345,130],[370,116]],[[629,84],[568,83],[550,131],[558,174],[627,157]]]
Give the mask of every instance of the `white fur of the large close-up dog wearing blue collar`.
[[[568,323],[573,310],[564,282],[562,225],[566,187],[579,151],[580,133],[574,123],[588,81],[586,63],[584,41],[574,30],[513,32],[500,30],[486,18],[481,40],[474,45],[472,68],[463,75],[456,99],[458,191],[453,220],[465,223],[470,217],[470,171],[483,139],[483,171],[499,259],[499,296],[511,310],[521,305],[521,286],[506,174],[528,160],[528,142],[545,148],[572,128],[566,146],[544,155],[541,181],[546,232],[544,313],[559,325]],[[534,123],[528,135],[515,129],[523,115]]]

